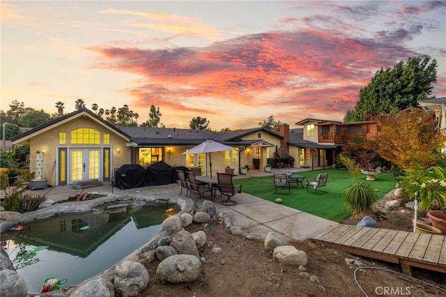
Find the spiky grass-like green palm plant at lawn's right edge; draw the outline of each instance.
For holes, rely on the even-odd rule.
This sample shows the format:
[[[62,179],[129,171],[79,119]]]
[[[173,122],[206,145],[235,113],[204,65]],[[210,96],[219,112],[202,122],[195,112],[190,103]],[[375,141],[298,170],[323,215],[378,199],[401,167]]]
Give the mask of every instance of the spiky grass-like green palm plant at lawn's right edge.
[[[376,201],[376,193],[369,182],[360,182],[360,165],[345,154],[339,155],[339,162],[343,164],[355,179],[353,185],[349,185],[341,192],[344,205],[350,209],[354,216],[359,216],[371,211]]]

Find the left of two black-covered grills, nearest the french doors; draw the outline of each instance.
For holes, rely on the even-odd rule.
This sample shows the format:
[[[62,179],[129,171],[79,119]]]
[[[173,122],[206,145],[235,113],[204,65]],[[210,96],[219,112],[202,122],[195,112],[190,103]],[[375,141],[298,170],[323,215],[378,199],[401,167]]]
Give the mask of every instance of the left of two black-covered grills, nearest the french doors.
[[[147,185],[146,169],[139,164],[122,165],[115,172],[115,187],[120,189],[141,188]]]

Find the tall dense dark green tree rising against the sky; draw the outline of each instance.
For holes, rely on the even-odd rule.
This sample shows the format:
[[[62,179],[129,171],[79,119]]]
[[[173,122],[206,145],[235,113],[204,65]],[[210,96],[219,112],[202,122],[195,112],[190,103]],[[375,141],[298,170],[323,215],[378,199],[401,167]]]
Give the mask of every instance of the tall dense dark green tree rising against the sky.
[[[427,56],[400,61],[393,68],[381,68],[371,82],[360,89],[360,100],[344,121],[367,121],[373,116],[417,107],[429,98],[437,82],[437,61]]]

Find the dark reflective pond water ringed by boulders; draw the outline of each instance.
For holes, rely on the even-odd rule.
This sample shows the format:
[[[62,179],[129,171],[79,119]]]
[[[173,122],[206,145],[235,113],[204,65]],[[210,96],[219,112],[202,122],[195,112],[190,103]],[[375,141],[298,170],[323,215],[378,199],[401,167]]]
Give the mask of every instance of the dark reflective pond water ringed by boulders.
[[[130,202],[127,212],[109,214],[110,205],[1,234],[1,245],[29,291],[40,292],[48,277],[67,279],[62,287],[68,287],[105,271],[148,243],[162,222],[180,211],[176,205]]]

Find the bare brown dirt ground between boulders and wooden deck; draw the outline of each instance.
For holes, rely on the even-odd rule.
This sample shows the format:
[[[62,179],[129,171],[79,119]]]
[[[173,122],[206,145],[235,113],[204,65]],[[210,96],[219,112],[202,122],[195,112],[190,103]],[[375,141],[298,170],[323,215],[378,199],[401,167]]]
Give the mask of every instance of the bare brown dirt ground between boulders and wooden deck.
[[[384,204],[386,199],[392,197],[389,195],[376,205]],[[380,228],[410,231],[412,215],[413,210],[401,206],[388,213],[385,220],[378,220],[378,224]],[[356,224],[358,221],[348,218],[342,223]],[[159,262],[155,260],[144,264],[149,271],[150,283],[139,296],[446,296],[443,273],[413,268],[413,277],[444,291],[390,272],[400,271],[396,264],[356,257],[317,245],[312,240],[291,243],[308,256],[307,270],[300,271],[297,266],[273,260],[262,240],[233,236],[218,220],[211,225],[213,228],[202,224],[188,227],[191,233],[202,230],[207,236],[207,244],[200,250],[206,263],[202,263],[198,280],[162,284],[156,277]],[[214,246],[222,248],[222,253],[213,254]],[[361,268],[355,273],[358,266],[348,264],[346,259],[358,259],[371,268]]]

